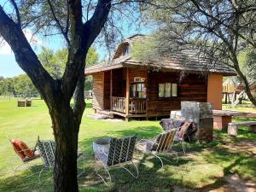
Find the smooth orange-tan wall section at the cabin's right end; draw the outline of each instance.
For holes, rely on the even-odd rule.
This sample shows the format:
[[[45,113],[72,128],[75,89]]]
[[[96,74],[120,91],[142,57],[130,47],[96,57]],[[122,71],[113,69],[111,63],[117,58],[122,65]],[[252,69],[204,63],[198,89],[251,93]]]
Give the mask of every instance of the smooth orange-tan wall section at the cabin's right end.
[[[212,103],[212,109],[222,109],[222,74],[208,75],[207,102]]]

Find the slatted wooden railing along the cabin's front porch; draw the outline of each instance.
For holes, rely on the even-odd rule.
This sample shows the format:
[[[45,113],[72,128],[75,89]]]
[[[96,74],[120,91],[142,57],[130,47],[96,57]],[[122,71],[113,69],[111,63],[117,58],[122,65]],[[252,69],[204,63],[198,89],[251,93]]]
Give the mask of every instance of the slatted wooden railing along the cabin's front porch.
[[[126,99],[125,97],[111,96],[110,97],[111,110],[120,113],[126,112]],[[129,101],[129,113],[146,113],[146,99],[131,98]]]

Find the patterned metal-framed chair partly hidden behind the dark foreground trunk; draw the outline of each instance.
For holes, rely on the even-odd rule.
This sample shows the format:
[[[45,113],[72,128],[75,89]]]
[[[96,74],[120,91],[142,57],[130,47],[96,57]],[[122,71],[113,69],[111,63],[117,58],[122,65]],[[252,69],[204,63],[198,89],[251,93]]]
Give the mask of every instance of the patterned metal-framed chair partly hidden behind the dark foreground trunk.
[[[42,144],[42,146],[40,146]],[[47,150],[46,145],[49,146],[49,151]],[[39,140],[38,139],[38,148],[41,153],[41,158],[44,162],[44,167],[41,169],[39,172],[38,176],[38,182],[41,182],[40,177],[43,172],[49,172],[51,169],[54,168],[55,166],[55,141],[53,140]],[[83,151],[82,148],[79,147],[81,152]],[[85,171],[84,171],[84,161],[85,161],[85,156],[82,153],[81,155],[78,156],[78,159],[82,158],[83,160],[83,171],[79,173],[77,177],[80,177]]]

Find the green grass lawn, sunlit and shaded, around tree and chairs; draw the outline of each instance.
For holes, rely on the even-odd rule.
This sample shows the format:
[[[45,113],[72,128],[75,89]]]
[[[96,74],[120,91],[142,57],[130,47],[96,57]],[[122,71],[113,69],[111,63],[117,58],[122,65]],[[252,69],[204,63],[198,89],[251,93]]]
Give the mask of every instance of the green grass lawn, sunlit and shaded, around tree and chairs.
[[[48,109],[42,100],[33,100],[32,108],[17,108],[16,102],[16,99],[0,99],[0,191],[52,191],[50,173],[43,174],[42,183],[38,183],[38,175],[26,177],[32,172],[38,172],[41,166],[32,165],[31,170],[20,171],[14,177],[12,167],[20,160],[6,136],[20,138],[30,145],[35,143],[38,136],[42,139],[53,138]],[[89,119],[86,117],[89,113],[92,113],[90,102],[87,104],[79,133],[79,145],[86,154],[86,172],[79,178],[80,191],[172,191],[175,185],[207,191],[223,186],[224,177],[234,173],[256,183],[255,154],[247,153],[246,149],[230,148],[230,145],[236,146],[241,141],[256,142],[256,134],[242,128],[238,137],[230,137],[225,131],[215,131],[214,142],[189,144],[188,155],[181,156],[177,164],[175,160],[173,163],[166,163],[162,170],[160,162],[151,156],[136,156],[139,159],[137,166],[140,177],[133,179],[123,170],[113,170],[113,183],[106,187],[94,172],[92,141],[98,137],[122,137],[131,134],[137,134],[139,138],[154,137],[162,130],[159,121],[113,123]],[[35,162],[41,163],[41,160]]]

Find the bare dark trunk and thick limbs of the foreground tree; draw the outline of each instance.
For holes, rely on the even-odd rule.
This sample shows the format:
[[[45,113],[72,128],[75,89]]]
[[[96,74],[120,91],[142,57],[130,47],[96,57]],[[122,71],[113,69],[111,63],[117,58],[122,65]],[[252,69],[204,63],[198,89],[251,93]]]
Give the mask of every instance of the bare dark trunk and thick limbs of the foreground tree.
[[[102,31],[108,18],[111,0],[98,0],[95,13],[85,23],[82,19],[81,0],[68,0],[67,5],[70,24],[68,61],[62,79],[57,80],[44,69],[20,25],[0,5],[0,35],[10,45],[17,63],[32,79],[49,108],[55,136],[55,192],[79,191],[77,149],[79,125],[85,108],[84,60],[90,45]],[[70,101],[74,90],[75,103],[71,108]]]

